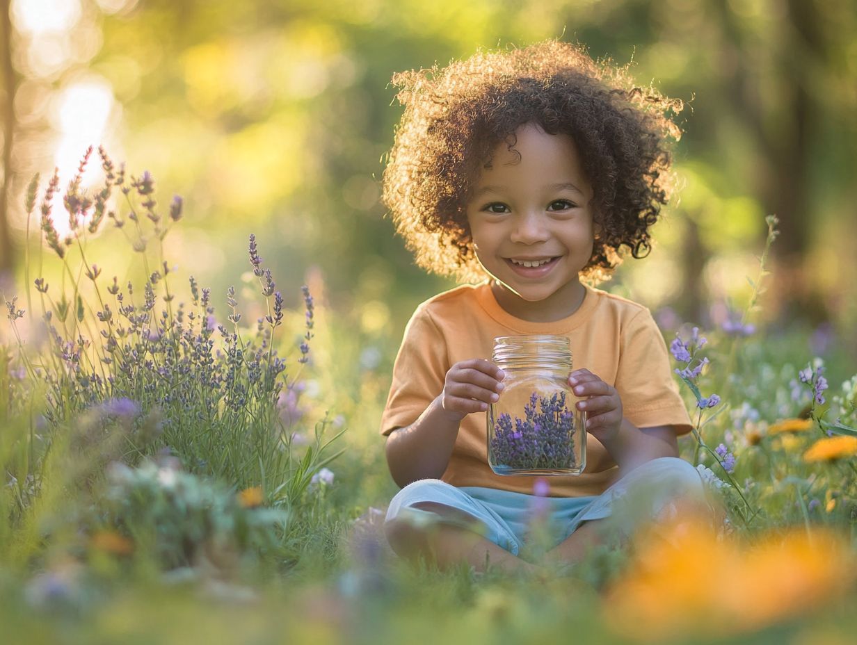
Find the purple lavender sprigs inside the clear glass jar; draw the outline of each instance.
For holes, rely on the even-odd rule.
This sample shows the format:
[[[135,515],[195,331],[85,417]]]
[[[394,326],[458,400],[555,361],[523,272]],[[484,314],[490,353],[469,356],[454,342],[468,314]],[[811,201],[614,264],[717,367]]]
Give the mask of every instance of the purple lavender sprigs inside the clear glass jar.
[[[533,392],[524,419],[516,416],[513,425],[512,415],[498,415],[490,446],[496,469],[574,468],[574,415],[566,407],[566,393],[548,398]]]

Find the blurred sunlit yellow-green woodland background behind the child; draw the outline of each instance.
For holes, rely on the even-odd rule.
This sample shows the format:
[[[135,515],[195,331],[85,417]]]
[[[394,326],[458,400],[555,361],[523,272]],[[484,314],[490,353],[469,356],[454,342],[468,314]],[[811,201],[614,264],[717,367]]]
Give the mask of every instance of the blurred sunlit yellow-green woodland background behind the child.
[[[417,303],[454,286],[413,266],[379,201],[401,114],[391,75],[561,38],[686,102],[682,188],[650,257],[605,288],[667,333],[722,325],[746,306],[776,214],[758,328],[800,327],[807,355],[857,358],[852,0],[3,0],[0,21],[7,290],[33,253],[27,182],[56,166],[64,187],[103,144],[153,173],[162,204],[183,196],[165,243],[184,272],[216,295],[249,282],[255,233],[287,303],[309,283],[348,330],[330,364],[384,373]],[[129,264],[128,248],[100,243],[105,265]]]

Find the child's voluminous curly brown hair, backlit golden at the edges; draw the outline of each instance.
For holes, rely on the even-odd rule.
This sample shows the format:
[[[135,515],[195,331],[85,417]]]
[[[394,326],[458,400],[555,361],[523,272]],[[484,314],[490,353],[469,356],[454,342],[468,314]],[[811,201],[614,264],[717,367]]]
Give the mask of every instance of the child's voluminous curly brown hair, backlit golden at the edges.
[[[536,122],[568,134],[593,188],[598,236],[582,276],[607,279],[630,250],[650,251],[649,227],[669,196],[672,116],[680,100],[638,87],[626,69],[580,45],[550,39],[524,49],[477,51],[443,69],[399,72],[405,112],[383,175],[382,200],[399,235],[430,272],[479,282],[466,204],[495,147]],[[623,248],[626,247],[626,248]]]

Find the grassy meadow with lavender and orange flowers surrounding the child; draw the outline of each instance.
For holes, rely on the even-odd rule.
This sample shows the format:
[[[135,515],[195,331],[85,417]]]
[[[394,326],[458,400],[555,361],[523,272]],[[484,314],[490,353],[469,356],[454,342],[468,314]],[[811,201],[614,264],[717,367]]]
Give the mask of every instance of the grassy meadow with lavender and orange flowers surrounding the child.
[[[68,240],[57,185],[33,183],[44,251],[5,295],[3,642],[852,642],[857,370],[810,330],[752,326],[764,254],[732,325],[664,329],[696,421],[682,456],[722,523],[561,576],[438,571],[374,539],[398,338],[369,347],[313,284],[286,308],[263,240],[238,294],[212,294],[162,256],[181,200],[159,214],[151,177],[100,163],[101,192],[63,195]],[[99,227],[136,251],[122,278]]]

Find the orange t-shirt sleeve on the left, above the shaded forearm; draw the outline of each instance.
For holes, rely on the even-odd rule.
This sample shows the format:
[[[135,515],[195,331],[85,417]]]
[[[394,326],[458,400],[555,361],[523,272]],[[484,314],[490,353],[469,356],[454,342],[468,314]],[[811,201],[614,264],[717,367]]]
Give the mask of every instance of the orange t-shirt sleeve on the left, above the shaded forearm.
[[[405,326],[405,336],[393,363],[393,382],[381,414],[381,434],[417,421],[446,381],[446,341],[424,305]]]

